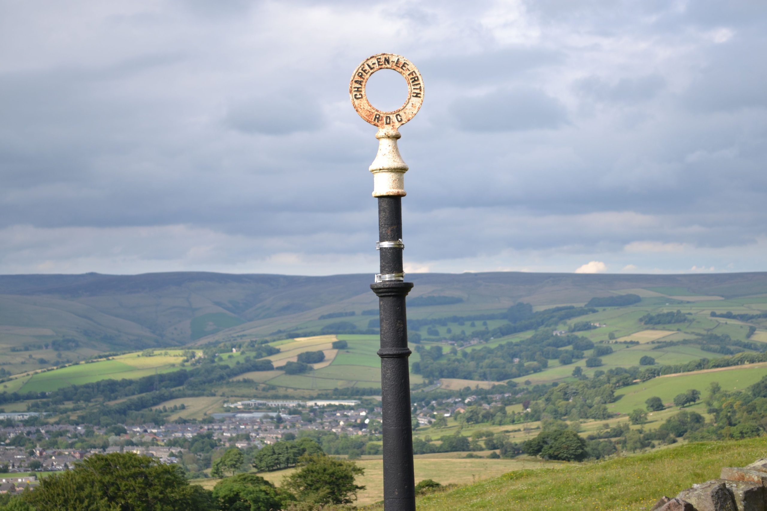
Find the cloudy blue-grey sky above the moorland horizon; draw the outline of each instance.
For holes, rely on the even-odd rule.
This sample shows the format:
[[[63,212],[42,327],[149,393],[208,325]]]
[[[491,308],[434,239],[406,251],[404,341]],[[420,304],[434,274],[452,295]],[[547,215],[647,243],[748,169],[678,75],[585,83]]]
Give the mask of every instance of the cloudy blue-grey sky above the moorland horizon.
[[[406,270],[767,270],[762,0],[0,0],[0,273],[375,273],[384,51]]]

